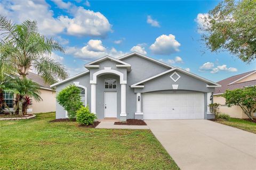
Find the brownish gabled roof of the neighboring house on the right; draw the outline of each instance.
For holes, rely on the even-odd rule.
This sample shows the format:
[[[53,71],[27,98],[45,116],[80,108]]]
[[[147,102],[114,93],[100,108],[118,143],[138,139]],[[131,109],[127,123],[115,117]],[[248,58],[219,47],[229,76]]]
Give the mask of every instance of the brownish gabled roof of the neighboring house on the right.
[[[242,79],[248,77],[249,75],[251,75],[255,72],[256,72],[256,70],[253,70],[253,71],[250,71],[250,72],[234,75],[232,77],[229,77],[227,79],[224,79],[224,80],[221,80],[221,81],[217,82],[217,83],[221,84],[221,87],[215,88],[215,91],[214,91],[213,94],[214,95],[221,95],[227,89],[228,90],[234,90],[234,89],[244,88],[244,87],[247,87],[247,86],[256,86],[256,80],[236,83],[237,81],[242,80]]]

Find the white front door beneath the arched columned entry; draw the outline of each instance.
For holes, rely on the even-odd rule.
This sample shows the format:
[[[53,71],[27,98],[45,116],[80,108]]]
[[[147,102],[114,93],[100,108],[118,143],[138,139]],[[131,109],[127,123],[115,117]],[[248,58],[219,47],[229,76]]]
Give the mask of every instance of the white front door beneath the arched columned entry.
[[[104,109],[105,117],[117,117],[116,91],[105,91]]]

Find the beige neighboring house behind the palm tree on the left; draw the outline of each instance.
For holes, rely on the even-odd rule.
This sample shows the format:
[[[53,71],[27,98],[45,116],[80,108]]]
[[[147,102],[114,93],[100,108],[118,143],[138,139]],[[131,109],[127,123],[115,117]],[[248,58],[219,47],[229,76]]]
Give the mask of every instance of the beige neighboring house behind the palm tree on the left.
[[[35,99],[32,98],[33,105],[28,108],[28,113],[55,112],[55,90],[51,89],[49,85],[45,84],[43,78],[35,73],[29,72],[27,78],[39,84],[41,88],[40,96],[43,99],[42,101],[37,102],[35,101]],[[14,107],[14,97],[15,95],[4,92],[4,100],[11,111]]]

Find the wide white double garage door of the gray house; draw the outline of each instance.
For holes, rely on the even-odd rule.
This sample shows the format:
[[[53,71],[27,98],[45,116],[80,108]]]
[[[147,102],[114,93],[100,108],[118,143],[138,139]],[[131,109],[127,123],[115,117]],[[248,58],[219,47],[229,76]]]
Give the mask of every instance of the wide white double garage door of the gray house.
[[[204,118],[203,93],[145,93],[143,119],[196,119]]]

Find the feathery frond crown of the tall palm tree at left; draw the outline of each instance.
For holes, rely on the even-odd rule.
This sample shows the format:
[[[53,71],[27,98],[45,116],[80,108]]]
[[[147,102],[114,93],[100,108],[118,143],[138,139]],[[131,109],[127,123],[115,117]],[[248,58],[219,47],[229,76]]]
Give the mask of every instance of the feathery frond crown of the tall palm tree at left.
[[[53,51],[64,52],[64,48],[58,41],[39,34],[36,21],[15,24],[0,15],[0,31],[2,50],[20,78],[25,78],[31,67],[48,84],[68,77],[65,67],[49,57]]]

